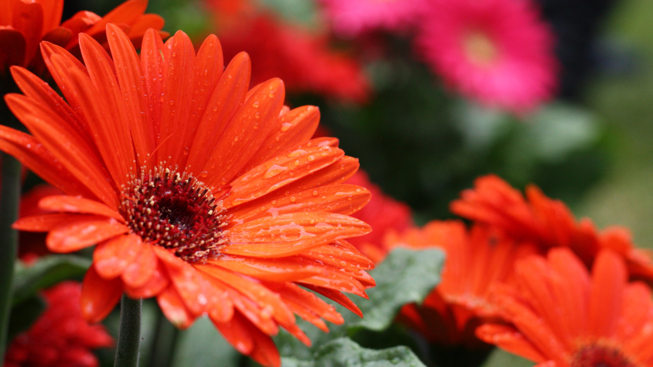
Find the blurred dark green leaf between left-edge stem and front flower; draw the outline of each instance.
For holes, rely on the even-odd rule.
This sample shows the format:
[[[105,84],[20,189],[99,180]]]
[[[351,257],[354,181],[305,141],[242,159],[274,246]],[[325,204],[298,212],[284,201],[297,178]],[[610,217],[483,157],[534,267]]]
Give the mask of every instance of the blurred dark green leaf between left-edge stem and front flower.
[[[30,266],[16,263],[12,302],[15,306],[59,281],[79,278],[86,273],[89,266],[91,266],[89,259],[74,255],[46,256]]]

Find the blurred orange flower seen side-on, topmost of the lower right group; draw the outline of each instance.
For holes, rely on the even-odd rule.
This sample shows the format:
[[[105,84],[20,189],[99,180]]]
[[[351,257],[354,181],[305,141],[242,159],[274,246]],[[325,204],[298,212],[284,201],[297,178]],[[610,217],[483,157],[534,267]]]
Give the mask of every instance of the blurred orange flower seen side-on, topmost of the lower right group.
[[[628,229],[611,227],[599,232],[590,219],[576,221],[563,202],[549,199],[534,185],[526,187],[524,198],[501,178],[483,176],[474,189],[463,191],[461,199],[451,202],[451,211],[502,229],[516,240],[534,242],[542,251],[569,247],[587,266],[601,249],[613,249],[626,259],[631,275],[653,281],[653,262],[633,246]]]

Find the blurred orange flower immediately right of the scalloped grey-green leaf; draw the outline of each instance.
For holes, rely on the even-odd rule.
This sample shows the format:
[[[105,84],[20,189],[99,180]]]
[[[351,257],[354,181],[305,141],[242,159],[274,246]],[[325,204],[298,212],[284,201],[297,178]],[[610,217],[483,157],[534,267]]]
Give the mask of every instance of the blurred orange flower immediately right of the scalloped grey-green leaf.
[[[437,246],[446,253],[442,280],[422,304],[407,304],[400,321],[419,331],[429,342],[443,346],[479,348],[474,335],[483,321],[500,319],[490,291],[513,281],[513,264],[534,251],[483,226],[467,230],[460,221],[432,221],[404,236],[387,238],[388,246]]]

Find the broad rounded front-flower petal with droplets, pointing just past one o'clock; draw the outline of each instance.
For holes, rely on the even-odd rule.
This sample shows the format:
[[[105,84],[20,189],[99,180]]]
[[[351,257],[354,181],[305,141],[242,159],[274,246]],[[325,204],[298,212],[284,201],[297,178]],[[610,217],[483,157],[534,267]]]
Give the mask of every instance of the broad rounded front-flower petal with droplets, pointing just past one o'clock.
[[[269,121],[279,116],[284,97],[283,82],[271,79],[246,99],[209,155],[204,170],[210,170],[212,174],[204,180],[206,185],[217,187],[228,183],[252,159],[274,127]],[[255,130],[259,131],[243,133]]]

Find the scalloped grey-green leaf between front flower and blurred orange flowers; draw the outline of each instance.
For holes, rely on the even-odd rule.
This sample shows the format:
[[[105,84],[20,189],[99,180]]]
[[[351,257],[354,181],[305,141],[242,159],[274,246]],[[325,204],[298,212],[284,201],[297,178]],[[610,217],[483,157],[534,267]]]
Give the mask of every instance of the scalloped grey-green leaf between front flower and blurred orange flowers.
[[[445,255],[439,249],[414,251],[398,248],[370,272],[376,287],[368,291],[368,300],[360,300],[363,318],[348,327],[381,331],[390,326],[404,304],[422,302],[440,282]]]

